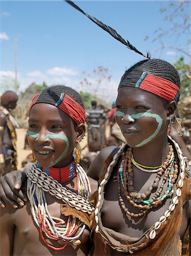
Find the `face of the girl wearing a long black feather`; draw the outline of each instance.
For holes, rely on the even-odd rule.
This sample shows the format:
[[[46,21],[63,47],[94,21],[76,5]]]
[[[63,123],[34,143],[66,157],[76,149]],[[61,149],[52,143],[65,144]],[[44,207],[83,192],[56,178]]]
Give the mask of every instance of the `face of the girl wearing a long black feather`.
[[[159,97],[137,88],[121,88],[116,122],[130,147],[141,147],[167,135],[168,109]]]

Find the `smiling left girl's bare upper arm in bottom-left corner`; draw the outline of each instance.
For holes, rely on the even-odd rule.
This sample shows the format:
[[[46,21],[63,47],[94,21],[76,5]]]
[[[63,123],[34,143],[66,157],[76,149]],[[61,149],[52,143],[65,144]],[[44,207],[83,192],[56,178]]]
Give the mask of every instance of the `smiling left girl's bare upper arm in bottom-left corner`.
[[[9,207],[0,209],[0,226],[0,254],[3,256],[12,255],[15,225],[11,223],[11,210]]]

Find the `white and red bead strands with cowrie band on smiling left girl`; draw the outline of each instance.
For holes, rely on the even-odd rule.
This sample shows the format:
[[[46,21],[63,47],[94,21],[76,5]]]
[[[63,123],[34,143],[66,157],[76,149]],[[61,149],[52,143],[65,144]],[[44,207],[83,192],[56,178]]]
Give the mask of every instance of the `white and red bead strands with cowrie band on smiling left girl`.
[[[71,165],[73,166],[73,164]],[[75,169],[73,177],[77,176],[76,193],[62,187],[57,180],[46,173],[47,169],[44,172],[43,168],[37,164],[33,164],[27,172],[27,196],[31,205],[33,220],[40,229],[42,240],[46,246],[53,250],[63,250],[69,242],[79,245],[80,241],[78,238],[82,235],[86,225],[73,216],[67,217],[67,220],[52,216],[48,210],[45,192],[49,192],[50,195],[62,200],[63,203],[67,203],[70,207],[86,214],[91,215],[94,210],[92,204],[88,201],[91,188],[86,172],[79,164],[74,164],[73,167]],[[64,168],[66,171],[66,167]],[[71,173],[71,167],[67,169],[68,180],[70,180],[71,175],[69,173]],[[82,229],[76,234],[79,228]],[[61,240],[65,244],[62,247],[54,247],[45,240],[44,235],[52,240]]]

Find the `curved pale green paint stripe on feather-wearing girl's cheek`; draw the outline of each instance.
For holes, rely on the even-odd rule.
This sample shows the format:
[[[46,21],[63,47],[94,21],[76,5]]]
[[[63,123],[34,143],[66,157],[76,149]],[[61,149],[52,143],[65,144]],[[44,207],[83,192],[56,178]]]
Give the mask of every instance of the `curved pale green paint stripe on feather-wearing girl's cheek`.
[[[133,119],[138,119],[138,118],[141,118],[141,117],[155,118],[156,122],[158,122],[158,126],[157,126],[155,132],[150,135],[150,137],[148,137],[147,139],[144,139],[141,143],[137,144],[135,147],[140,147],[140,146],[145,145],[147,142],[150,142],[151,139],[153,139],[156,136],[156,134],[159,133],[160,128],[161,128],[162,123],[163,123],[163,119],[158,114],[152,114],[152,113],[144,112],[144,113],[138,113],[138,114],[131,115],[131,118],[133,118]]]

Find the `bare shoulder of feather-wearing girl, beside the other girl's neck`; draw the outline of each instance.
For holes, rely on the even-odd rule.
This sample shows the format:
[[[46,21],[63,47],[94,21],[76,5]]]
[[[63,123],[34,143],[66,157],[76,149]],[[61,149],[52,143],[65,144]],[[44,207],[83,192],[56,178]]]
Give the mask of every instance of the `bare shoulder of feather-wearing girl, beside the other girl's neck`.
[[[116,147],[115,146],[105,147],[103,148],[103,150],[99,152],[99,154],[96,156],[96,158],[91,163],[88,169],[87,174],[89,177],[92,177],[92,179],[95,179],[95,180],[99,180],[99,177],[104,170],[105,159],[107,159],[107,157],[111,154],[114,148]]]

